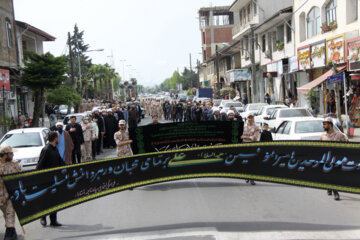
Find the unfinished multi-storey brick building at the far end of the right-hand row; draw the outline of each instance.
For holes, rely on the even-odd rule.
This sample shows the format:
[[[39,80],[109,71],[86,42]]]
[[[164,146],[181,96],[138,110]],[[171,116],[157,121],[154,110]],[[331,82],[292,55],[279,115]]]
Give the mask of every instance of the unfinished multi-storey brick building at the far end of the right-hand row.
[[[201,8],[199,24],[203,59],[199,68],[199,80],[201,86],[210,87],[216,82],[215,65],[210,59],[216,55],[219,46],[231,42],[234,16],[229,11],[229,6]],[[223,81],[225,82],[224,79]]]

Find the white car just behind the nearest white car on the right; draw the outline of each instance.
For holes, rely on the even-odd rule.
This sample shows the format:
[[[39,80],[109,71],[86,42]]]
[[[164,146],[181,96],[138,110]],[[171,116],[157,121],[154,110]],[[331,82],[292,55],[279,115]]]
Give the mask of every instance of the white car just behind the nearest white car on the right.
[[[265,117],[266,123],[269,124],[269,129],[275,131],[284,119],[302,117],[305,119],[313,119],[313,115],[306,108],[280,108],[275,109],[275,111],[270,115],[270,117]]]

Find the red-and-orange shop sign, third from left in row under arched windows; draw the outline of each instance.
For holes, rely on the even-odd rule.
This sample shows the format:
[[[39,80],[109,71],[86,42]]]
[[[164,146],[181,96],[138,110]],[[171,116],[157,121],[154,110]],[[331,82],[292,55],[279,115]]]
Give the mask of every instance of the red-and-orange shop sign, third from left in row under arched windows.
[[[327,64],[345,62],[345,34],[326,40]]]

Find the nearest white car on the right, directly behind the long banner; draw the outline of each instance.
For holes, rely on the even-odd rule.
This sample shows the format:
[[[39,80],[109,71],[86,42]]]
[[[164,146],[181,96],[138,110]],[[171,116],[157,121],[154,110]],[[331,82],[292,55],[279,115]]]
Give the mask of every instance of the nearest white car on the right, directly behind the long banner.
[[[323,120],[323,118],[285,119],[276,131],[272,133],[273,140],[320,140],[321,134],[325,132]],[[334,125],[334,130],[340,131],[336,125]]]

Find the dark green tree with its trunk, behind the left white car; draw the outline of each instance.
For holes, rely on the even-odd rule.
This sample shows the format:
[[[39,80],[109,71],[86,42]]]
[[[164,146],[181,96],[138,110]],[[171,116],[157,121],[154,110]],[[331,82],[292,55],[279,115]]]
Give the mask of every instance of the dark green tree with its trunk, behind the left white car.
[[[21,69],[21,84],[33,90],[33,126],[38,127],[40,116],[45,109],[45,90],[56,88],[67,79],[67,62],[66,57],[54,57],[49,52],[39,55],[26,51],[25,54],[28,61],[25,61],[25,67]]]

